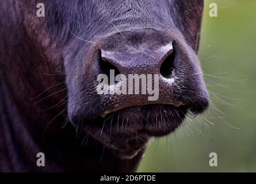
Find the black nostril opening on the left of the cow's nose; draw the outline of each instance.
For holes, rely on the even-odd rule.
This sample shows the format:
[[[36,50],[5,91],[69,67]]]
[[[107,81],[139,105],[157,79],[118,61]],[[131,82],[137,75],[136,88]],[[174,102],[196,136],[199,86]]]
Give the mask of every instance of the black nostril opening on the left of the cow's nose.
[[[99,51],[98,60],[99,60],[100,74],[107,75],[109,79],[110,79],[110,70],[114,71],[114,77],[120,74],[120,71],[115,66],[113,66],[113,64],[111,64],[111,62],[108,59],[102,57],[101,51]]]

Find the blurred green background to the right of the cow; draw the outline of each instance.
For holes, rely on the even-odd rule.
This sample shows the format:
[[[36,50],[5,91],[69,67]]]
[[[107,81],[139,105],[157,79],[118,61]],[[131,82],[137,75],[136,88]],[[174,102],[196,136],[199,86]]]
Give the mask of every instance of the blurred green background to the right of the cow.
[[[212,2],[218,17],[209,16]],[[198,55],[213,105],[151,140],[139,172],[256,172],[255,45],[255,0],[205,1]],[[217,167],[209,166],[211,152]]]

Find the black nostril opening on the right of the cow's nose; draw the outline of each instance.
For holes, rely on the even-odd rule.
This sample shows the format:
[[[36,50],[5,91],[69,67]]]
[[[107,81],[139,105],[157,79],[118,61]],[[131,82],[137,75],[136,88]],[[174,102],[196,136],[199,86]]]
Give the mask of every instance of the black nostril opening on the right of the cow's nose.
[[[175,51],[169,53],[160,67],[160,74],[165,78],[171,78],[174,70]]]

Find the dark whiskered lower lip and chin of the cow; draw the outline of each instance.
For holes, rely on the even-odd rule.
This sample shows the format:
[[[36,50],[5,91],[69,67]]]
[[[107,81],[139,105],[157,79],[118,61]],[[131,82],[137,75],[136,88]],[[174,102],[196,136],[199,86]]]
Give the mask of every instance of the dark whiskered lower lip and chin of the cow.
[[[185,105],[132,106],[94,118],[84,128],[113,155],[131,159],[146,148],[151,137],[174,132],[182,124],[188,107]],[[166,114],[165,116],[157,114]],[[87,121],[89,122],[89,121]],[[102,123],[103,122],[103,123]]]

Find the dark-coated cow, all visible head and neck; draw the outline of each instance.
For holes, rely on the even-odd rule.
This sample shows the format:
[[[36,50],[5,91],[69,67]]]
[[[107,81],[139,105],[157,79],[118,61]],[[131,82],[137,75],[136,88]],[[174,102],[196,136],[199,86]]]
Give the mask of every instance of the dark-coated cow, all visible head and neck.
[[[40,2],[45,17],[36,17],[37,1],[0,2],[0,171],[136,171],[151,137],[207,109],[196,56],[202,0]],[[162,71],[155,50],[169,43],[173,64]],[[136,45],[154,57],[131,55]],[[97,94],[101,57],[113,50],[117,70],[161,71],[173,85],[162,82],[156,102]]]

